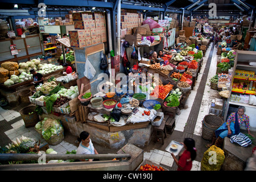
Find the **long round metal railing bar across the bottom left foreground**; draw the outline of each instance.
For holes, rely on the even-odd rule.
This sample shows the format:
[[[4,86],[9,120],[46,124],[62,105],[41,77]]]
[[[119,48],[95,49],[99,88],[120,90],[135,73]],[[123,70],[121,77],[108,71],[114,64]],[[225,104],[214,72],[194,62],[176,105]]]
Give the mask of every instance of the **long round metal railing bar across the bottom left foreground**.
[[[40,160],[45,157],[45,160],[79,160],[79,159],[99,159],[99,160],[113,160],[117,159],[130,160],[130,154],[0,154],[1,161],[26,161],[26,160]]]

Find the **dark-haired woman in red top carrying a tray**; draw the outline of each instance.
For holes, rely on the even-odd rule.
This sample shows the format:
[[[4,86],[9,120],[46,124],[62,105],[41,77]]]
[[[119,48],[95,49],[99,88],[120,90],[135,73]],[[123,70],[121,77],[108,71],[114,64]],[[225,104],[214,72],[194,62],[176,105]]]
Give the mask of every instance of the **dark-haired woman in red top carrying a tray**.
[[[179,160],[171,153],[178,168],[177,171],[190,171],[192,168],[192,161],[196,158],[195,140],[192,138],[185,138],[183,144],[185,151],[179,156]]]

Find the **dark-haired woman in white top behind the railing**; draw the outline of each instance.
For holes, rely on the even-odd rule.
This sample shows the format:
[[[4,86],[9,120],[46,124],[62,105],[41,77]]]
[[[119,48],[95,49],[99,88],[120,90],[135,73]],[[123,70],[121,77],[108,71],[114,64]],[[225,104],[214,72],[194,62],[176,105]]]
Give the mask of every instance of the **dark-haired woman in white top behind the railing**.
[[[92,140],[90,139],[90,134],[86,131],[80,133],[77,140],[80,142],[79,147],[77,148],[76,154],[98,154],[96,149],[93,146]],[[88,159],[81,159],[81,161],[87,161]],[[93,161],[93,159],[89,159]]]

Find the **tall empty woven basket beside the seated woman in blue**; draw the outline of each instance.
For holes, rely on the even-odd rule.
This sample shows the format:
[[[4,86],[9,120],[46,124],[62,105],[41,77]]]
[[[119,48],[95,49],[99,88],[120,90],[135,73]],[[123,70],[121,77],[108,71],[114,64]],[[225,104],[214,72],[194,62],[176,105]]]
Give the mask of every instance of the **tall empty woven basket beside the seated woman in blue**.
[[[206,140],[212,140],[213,131],[217,130],[223,123],[223,119],[217,117],[217,115],[205,115],[203,120],[202,137]]]

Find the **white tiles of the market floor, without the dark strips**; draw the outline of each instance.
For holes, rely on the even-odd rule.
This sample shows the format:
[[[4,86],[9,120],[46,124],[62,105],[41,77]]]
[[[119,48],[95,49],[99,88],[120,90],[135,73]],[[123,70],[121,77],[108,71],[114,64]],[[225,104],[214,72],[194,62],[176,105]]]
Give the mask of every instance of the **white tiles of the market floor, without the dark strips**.
[[[176,117],[175,117],[175,119],[176,119],[175,130],[177,130],[177,131],[181,131],[181,132],[184,131],[184,127],[186,125],[189,113],[191,111],[191,107],[193,105],[193,101],[196,96],[197,89],[198,89],[200,81],[201,81],[201,77],[203,76],[203,72],[204,72],[205,64],[206,64],[208,56],[209,56],[209,52],[210,52],[210,47],[208,48],[208,51],[206,52],[206,54],[204,56],[204,61],[203,61],[203,65],[201,67],[201,71],[196,80],[195,87],[193,88],[193,90],[191,90],[191,94],[189,94],[188,100],[185,104],[185,109],[180,110],[181,114],[176,115]],[[212,94],[212,92],[214,92],[214,91],[212,91],[212,89],[210,89],[209,78],[214,76],[216,73],[216,61],[217,61],[216,49],[214,48],[213,57],[212,57],[211,65],[210,65],[211,69],[209,71],[209,75],[208,75],[208,79],[207,79],[208,84],[205,85],[203,101],[202,101],[202,105],[200,107],[199,117],[197,119],[197,124],[196,124],[196,128],[194,131],[195,135],[201,135],[201,121],[203,120],[204,115],[208,114],[209,103],[210,103],[209,96],[210,96],[210,94]],[[14,122],[11,125],[13,127],[13,129],[5,131],[5,134],[7,135],[7,137],[9,137],[11,140],[13,140],[16,137],[21,137],[23,135],[25,137],[31,137],[31,138],[35,138],[37,140],[40,139],[41,143],[46,143],[46,141],[44,139],[42,139],[42,137],[40,137],[40,134],[38,134],[35,131],[34,127],[26,128],[24,126],[23,119],[20,117],[19,112],[14,111],[14,110],[5,110],[5,109],[2,109],[2,107],[0,107],[0,122],[3,121],[4,119],[7,122],[10,122],[13,119],[18,118],[18,117],[20,118],[20,120],[18,122]],[[70,144],[68,142],[65,142],[65,141],[61,142],[57,146],[49,146],[49,147],[53,148],[53,150],[55,150],[59,154],[65,154],[67,151],[72,151],[72,150],[77,149],[76,146],[74,146],[73,144]],[[157,150],[157,149],[153,149],[150,152],[144,152],[144,159],[151,160],[152,162],[155,162],[157,164],[164,164],[165,166],[169,166],[169,167],[172,167],[172,164],[174,164],[174,159],[172,158],[172,156],[169,152]],[[194,161],[192,171],[199,171],[200,167],[201,167],[200,165],[201,165],[200,162]]]

